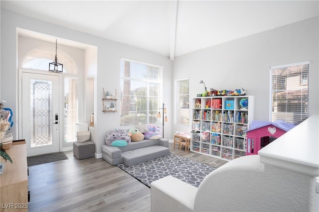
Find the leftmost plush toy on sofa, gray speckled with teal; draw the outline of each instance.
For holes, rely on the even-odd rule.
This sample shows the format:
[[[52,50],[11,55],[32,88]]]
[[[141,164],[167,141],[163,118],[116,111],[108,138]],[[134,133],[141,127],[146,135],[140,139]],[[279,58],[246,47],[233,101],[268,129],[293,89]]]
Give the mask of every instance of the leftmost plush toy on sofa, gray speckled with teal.
[[[127,146],[131,143],[131,137],[123,129],[114,129],[106,134],[105,143],[109,146]]]

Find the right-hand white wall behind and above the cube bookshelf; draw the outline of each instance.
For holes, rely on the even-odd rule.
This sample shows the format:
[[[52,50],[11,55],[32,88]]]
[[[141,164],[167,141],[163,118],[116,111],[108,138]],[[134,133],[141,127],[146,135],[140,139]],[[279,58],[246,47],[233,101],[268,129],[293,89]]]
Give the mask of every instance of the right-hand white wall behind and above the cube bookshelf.
[[[317,16],[176,57],[173,80],[189,77],[191,98],[204,92],[200,80],[207,90],[243,87],[255,96],[255,120],[269,120],[270,66],[310,61],[309,113],[318,114],[318,20]],[[173,132],[190,129],[172,125]]]

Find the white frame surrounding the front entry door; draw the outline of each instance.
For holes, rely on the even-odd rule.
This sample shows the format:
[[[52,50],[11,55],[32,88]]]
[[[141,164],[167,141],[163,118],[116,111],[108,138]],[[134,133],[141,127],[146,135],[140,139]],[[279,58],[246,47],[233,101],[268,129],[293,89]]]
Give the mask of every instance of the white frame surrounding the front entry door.
[[[54,75],[59,77],[59,137],[58,137],[58,144],[59,144],[59,151],[62,151],[62,133],[64,130],[62,130],[62,126],[64,126],[63,122],[63,115],[62,112],[64,111],[64,108],[60,104],[61,101],[61,85],[62,85],[62,75],[61,74],[55,74],[55,73],[49,73],[41,70],[27,70],[27,69],[19,69],[18,70],[18,135],[20,139],[23,139],[22,137],[22,73],[31,73],[31,74],[42,74],[42,75]]]

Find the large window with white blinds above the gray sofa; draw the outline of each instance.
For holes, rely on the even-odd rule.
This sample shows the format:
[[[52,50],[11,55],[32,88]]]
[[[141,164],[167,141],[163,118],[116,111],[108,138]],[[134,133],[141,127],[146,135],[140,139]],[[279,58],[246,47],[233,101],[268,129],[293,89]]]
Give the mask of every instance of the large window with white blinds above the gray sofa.
[[[162,67],[121,59],[120,126],[158,124],[162,105]]]

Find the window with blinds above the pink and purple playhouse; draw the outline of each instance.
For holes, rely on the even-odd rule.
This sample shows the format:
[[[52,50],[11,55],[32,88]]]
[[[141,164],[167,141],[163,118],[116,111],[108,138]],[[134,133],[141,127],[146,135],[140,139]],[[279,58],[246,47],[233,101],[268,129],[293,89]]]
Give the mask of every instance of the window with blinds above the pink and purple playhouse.
[[[270,67],[271,121],[299,124],[308,118],[309,61]]]

